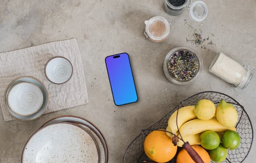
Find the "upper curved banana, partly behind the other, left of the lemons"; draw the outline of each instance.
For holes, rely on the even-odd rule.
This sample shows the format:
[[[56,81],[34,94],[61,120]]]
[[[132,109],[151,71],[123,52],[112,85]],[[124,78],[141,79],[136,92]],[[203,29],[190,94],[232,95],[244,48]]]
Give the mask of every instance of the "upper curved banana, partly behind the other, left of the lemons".
[[[179,109],[178,113],[178,127],[180,128],[181,125],[183,125],[185,122],[190,121],[192,119],[196,119],[197,116],[194,113],[195,106],[185,106],[181,107]],[[178,135],[178,128],[176,124],[176,117],[177,117],[177,111],[173,113],[172,116],[170,116],[168,120],[168,127],[167,131],[172,132],[176,135]],[[174,135],[166,132],[166,134],[170,137],[173,138]]]

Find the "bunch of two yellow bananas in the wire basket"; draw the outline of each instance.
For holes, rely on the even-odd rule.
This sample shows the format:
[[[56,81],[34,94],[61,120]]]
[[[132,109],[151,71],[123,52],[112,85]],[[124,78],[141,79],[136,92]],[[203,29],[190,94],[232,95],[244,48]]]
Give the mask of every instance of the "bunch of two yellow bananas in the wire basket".
[[[211,130],[223,133],[226,130],[237,130],[234,126],[223,126],[216,118],[211,118],[209,120],[197,119],[197,116],[194,113],[194,108],[195,106],[181,107],[179,109],[178,118],[177,111],[172,116],[170,116],[166,130],[175,133],[175,135],[178,135],[178,137],[180,137],[179,134],[181,134],[183,140],[188,142],[190,145],[199,145],[200,134],[204,131]],[[178,132],[177,124],[180,133]],[[177,144],[180,147],[183,145],[183,142],[177,140],[177,137],[174,138],[175,136],[173,134],[168,132],[166,132],[166,134],[172,138],[174,144]]]

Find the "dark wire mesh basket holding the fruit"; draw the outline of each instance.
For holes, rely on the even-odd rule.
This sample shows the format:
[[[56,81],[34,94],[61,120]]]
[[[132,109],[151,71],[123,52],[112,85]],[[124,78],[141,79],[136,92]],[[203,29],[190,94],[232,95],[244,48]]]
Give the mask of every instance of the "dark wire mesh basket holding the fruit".
[[[210,91],[201,92],[187,98],[186,100],[183,101],[183,106],[195,105],[201,99],[211,100],[212,102],[215,103],[216,106],[221,101],[221,99],[224,99],[227,103],[231,103],[234,106],[234,108],[236,108],[238,112],[238,122],[236,124],[236,128],[241,138],[241,144],[237,149],[229,150],[228,156],[226,160],[223,162],[227,162],[227,163],[243,162],[250,151],[252,140],[253,140],[253,128],[252,128],[251,120],[248,114],[245,112],[244,107],[228,95],[225,95],[219,92],[210,92]],[[162,128],[166,129],[168,125],[169,117],[172,116],[172,114],[175,111],[177,111],[177,109],[178,109],[178,106],[175,107],[175,109],[172,112],[168,113],[160,121],[158,121],[148,129],[162,129]],[[149,158],[146,157],[144,153],[144,140],[150,132],[152,131],[142,131],[138,135],[138,137],[134,139],[134,141],[126,149],[126,152],[123,158],[123,163],[137,163],[137,162],[141,162],[142,160],[150,160]],[[181,149],[182,149],[181,147],[178,147],[176,156],[168,162],[172,162],[172,163],[176,162],[177,154]]]

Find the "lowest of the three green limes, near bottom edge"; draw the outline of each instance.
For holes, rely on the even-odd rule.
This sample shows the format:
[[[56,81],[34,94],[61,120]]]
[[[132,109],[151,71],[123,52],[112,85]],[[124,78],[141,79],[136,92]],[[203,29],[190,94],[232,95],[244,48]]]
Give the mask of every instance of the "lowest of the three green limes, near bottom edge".
[[[219,147],[209,151],[210,159],[214,162],[222,162],[227,158],[227,152],[228,150],[220,143]]]

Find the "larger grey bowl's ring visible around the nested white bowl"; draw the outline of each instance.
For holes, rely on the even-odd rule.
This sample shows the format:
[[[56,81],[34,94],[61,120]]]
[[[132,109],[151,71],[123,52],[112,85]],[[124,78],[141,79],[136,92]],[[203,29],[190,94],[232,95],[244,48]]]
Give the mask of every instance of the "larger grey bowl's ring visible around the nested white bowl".
[[[34,85],[36,85],[37,87],[39,87],[39,89],[42,92],[42,95],[44,96],[44,100],[42,102],[42,106],[40,107],[40,109],[38,110],[38,112],[36,112],[35,114],[32,114],[30,116],[20,116],[18,114],[15,114],[9,104],[8,104],[8,94],[10,92],[10,90],[12,89],[12,87],[14,87],[16,84],[18,83],[22,83],[22,82],[29,82],[32,83]],[[8,113],[15,119],[18,120],[22,120],[22,121],[30,121],[33,119],[36,119],[38,117],[40,117],[45,111],[46,108],[48,106],[48,102],[49,102],[49,93],[48,90],[46,88],[46,86],[44,85],[44,83],[42,83],[39,79],[32,77],[32,76],[22,76],[22,77],[18,77],[16,79],[14,79],[6,88],[5,90],[5,95],[4,95],[4,102],[5,102],[5,106],[6,109],[8,111]]]

